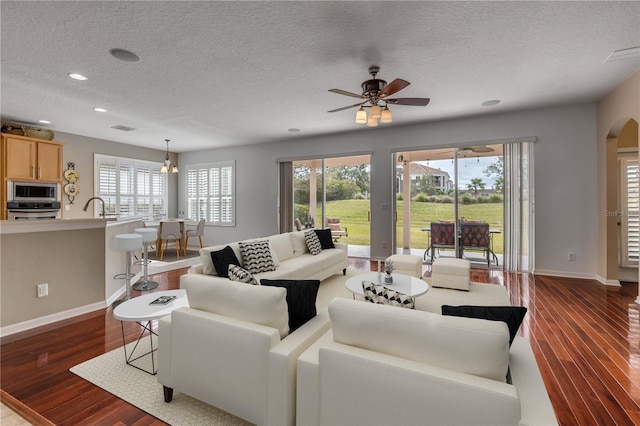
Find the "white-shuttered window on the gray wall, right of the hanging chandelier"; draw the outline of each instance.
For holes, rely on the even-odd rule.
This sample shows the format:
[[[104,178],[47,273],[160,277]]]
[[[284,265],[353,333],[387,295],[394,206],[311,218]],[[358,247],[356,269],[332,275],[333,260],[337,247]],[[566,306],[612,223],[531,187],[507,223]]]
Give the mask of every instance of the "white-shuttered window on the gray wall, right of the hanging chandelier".
[[[187,217],[235,226],[235,162],[186,166]]]

